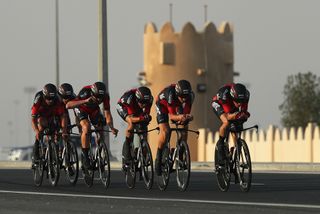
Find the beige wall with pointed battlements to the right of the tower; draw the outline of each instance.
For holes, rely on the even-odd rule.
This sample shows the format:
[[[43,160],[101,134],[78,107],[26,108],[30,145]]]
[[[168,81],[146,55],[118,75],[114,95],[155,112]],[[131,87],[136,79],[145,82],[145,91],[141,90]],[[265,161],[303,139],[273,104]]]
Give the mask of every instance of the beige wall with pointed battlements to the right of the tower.
[[[214,147],[219,135],[200,129],[198,161],[213,161]],[[305,130],[277,129],[270,126],[266,131],[247,131],[246,140],[252,162],[299,162],[320,163],[320,128],[309,124]]]

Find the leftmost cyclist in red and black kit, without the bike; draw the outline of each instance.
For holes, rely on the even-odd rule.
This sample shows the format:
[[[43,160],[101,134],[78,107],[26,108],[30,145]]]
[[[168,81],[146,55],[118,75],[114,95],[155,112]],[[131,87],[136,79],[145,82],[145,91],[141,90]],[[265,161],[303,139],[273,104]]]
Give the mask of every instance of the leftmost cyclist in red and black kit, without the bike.
[[[63,131],[63,136],[67,134],[67,117],[65,114],[65,107],[57,96],[57,88],[55,85],[48,83],[42,91],[36,93],[33,105],[31,108],[31,124],[36,134],[36,139],[33,147],[34,161],[39,160],[39,140],[40,133],[49,128],[56,131],[55,117],[59,118],[60,127]]]

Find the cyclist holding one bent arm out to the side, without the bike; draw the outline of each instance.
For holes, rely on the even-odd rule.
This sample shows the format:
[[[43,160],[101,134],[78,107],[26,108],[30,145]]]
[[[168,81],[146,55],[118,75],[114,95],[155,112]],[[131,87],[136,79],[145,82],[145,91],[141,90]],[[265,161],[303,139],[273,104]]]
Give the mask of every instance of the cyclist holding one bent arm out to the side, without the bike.
[[[104,116],[99,105],[103,103]],[[83,87],[78,96],[67,103],[68,109],[75,108],[76,115],[81,127],[81,147],[84,157],[83,167],[90,168],[89,145],[90,145],[90,125],[102,129],[108,124],[111,132],[117,135],[118,130],[113,126],[113,118],[110,111],[110,97],[103,82],[95,82],[92,85]],[[103,133],[101,133],[103,136]]]

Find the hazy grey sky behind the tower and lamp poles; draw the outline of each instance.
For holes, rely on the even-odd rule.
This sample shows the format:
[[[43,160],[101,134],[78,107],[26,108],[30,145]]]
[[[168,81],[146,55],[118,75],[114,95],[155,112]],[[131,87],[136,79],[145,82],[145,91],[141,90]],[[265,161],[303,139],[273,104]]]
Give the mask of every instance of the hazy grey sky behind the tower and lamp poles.
[[[280,126],[278,106],[288,75],[320,75],[320,2],[318,0],[109,0],[109,89],[115,111],[121,94],[136,86],[143,70],[143,30],[152,21],[160,29],[169,20],[181,32],[186,22],[204,28],[208,21],[234,26],[235,81],[250,86],[248,124]],[[76,91],[97,80],[98,0],[60,0],[60,82]],[[55,82],[55,0],[0,1],[1,145],[29,144],[30,105],[34,95]],[[14,134],[12,134],[14,132]],[[33,134],[32,134],[33,136]],[[122,139],[120,139],[122,140]]]

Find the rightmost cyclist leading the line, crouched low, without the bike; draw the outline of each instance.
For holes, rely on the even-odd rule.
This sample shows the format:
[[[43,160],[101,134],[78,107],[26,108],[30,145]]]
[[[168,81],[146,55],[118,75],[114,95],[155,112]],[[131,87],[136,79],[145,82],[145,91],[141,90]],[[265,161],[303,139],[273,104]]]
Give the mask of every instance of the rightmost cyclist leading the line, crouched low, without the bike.
[[[217,142],[219,162],[223,162],[224,140],[226,128],[230,120],[246,121],[250,117],[248,102],[250,93],[243,84],[231,83],[221,87],[212,99],[212,108],[222,124],[219,128],[219,140]],[[232,135],[233,142],[236,142],[236,135]],[[232,151],[233,148],[231,148]]]

